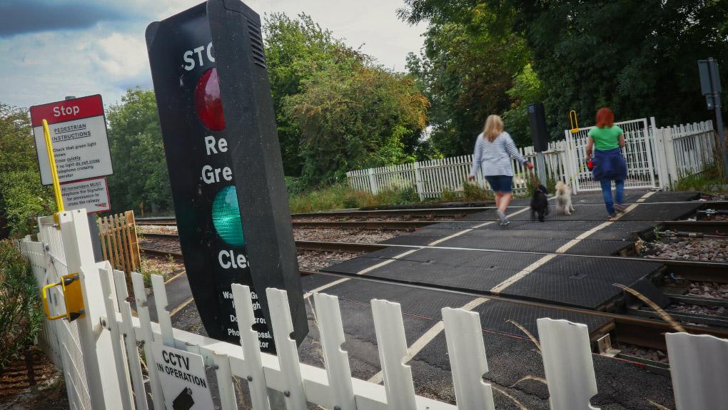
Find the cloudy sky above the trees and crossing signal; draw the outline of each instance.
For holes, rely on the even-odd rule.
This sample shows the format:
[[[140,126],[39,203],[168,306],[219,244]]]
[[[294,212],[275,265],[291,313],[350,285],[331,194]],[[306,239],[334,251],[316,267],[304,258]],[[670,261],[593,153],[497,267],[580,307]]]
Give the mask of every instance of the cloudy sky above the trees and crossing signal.
[[[200,0],[0,1],[0,102],[18,107],[101,94],[104,104],[127,88],[151,88],[144,30]],[[379,63],[405,70],[424,26],[397,20],[402,0],[247,0],[261,16],[306,12]]]

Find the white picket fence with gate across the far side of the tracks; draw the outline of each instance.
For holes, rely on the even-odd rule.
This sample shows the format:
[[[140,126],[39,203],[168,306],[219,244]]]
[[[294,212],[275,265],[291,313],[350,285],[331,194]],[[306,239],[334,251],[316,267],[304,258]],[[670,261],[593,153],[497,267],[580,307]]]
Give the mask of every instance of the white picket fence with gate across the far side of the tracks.
[[[629,175],[625,188],[670,189],[679,178],[697,174],[715,160],[716,139],[711,121],[661,128],[655,126],[654,118],[617,124],[625,130],[627,142],[624,153]],[[582,166],[585,163],[587,132],[591,128],[583,128],[574,135],[565,130],[564,139],[550,142],[544,153],[547,177],[571,182],[575,193],[601,189]],[[519,151],[529,160],[536,156],[533,147],[519,148]],[[512,161],[513,191],[516,194],[526,193],[528,174],[518,161]],[[355,190],[375,194],[381,190],[400,188],[415,189],[420,199],[437,198],[446,191],[462,190],[471,165],[472,155],[456,156],[358,169],[347,172],[347,181]],[[480,188],[489,189],[488,182],[480,174],[476,176],[476,183]]]

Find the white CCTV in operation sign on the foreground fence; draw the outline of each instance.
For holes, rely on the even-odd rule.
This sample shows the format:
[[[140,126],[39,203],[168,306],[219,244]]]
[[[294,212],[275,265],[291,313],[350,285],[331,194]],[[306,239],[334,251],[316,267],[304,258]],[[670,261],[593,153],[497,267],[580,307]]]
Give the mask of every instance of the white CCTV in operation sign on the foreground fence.
[[[214,409],[201,355],[151,342],[167,410]]]

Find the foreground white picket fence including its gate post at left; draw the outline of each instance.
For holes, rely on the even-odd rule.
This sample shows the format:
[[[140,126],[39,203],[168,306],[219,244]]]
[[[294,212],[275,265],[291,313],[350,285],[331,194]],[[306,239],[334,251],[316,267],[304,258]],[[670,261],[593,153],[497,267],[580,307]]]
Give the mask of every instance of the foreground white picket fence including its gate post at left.
[[[488,363],[478,313],[443,308],[443,328],[450,358],[456,404],[416,395],[411,369],[403,358],[407,344],[400,305],[372,300],[377,348],[384,385],[351,376],[349,357],[341,350],[344,331],[339,301],[327,294],[313,294],[325,369],[298,361],[296,343],[288,337],[292,328],[287,295],[266,289],[278,355],[261,353],[252,330],[253,299],[247,286],[233,285],[240,345],[220,342],[181,329],[173,329],[167,310],[167,293],[161,276],[152,276],[158,323],[150,320],[149,300],[141,274],[132,274],[132,314],[124,273],[111,270],[108,262],[95,263],[85,210],[63,212],[56,224],[42,217],[39,242],[26,237],[23,253],[31,260],[39,284],[58,279],[54,264],[65,261],[69,272],[79,272],[85,317],[74,323],[45,323],[41,347],[63,369],[72,409],[148,409],[146,382],[154,409],[165,408],[158,379],[153,343],[162,343],[202,355],[214,369],[223,409],[237,409],[240,390],[248,384],[253,409],[272,409],[269,389],[283,393],[286,409],[308,409],[314,403],[339,410],[446,410],[495,409],[491,385],[483,382]],[[54,312],[62,304],[54,296]],[[62,310],[62,309],[61,309]],[[597,393],[587,326],[564,320],[537,321],[550,408],[596,409],[589,399]],[[719,409],[728,403],[728,340],[684,333],[666,334],[670,371],[678,410]],[[148,379],[142,369],[141,344]],[[69,346],[74,346],[71,352]]]

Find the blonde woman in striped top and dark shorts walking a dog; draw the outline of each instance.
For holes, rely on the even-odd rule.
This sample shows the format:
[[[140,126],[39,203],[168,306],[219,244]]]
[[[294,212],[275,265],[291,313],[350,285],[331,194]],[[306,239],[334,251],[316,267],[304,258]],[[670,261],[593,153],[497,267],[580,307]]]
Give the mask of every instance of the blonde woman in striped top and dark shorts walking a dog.
[[[515,143],[510,134],[503,131],[503,120],[496,115],[488,116],[483,132],[478,134],[475,141],[475,150],[472,153],[472,169],[467,179],[474,180],[475,172],[478,172],[478,168],[480,168],[483,177],[486,177],[491,189],[496,193],[496,213],[502,226],[510,223],[505,212],[511,198],[513,198],[513,193],[511,193],[511,183],[513,181],[511,157],[528,169],[534,168],[533,164],[521,156],[518,148],[515,148]]]

